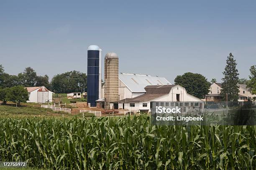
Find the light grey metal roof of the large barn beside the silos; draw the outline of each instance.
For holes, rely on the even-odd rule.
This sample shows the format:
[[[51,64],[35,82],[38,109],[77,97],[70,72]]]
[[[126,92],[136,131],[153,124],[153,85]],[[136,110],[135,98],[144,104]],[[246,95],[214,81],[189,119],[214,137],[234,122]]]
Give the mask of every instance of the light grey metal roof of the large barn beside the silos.
[[[119,74],[119,80],[122,81],[131,92],[146,92],[147,85],[171,85],[164,77],[154,77],[150,75],[138,74]]]

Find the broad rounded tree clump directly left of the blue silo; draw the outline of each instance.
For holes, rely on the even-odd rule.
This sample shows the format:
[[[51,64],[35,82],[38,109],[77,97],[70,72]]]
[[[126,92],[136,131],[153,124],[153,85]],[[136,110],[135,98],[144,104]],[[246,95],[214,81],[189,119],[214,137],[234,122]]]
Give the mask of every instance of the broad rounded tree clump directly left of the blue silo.
[[[56,93],[84,92],[87,90],[87,75],[75,70],[55,75],[51,88]]]

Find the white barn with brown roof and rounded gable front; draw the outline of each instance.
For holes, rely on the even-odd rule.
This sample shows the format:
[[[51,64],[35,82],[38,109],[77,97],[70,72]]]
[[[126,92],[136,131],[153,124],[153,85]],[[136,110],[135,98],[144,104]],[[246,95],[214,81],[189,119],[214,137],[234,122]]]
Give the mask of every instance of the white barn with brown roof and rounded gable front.
[[[189,95],[180,85],[148,85],[144,90],[146,93],[143,95],[117,101],[118,108],[148,112],[152,102],[156,102],[156,106],[204,107],[204,101]]]

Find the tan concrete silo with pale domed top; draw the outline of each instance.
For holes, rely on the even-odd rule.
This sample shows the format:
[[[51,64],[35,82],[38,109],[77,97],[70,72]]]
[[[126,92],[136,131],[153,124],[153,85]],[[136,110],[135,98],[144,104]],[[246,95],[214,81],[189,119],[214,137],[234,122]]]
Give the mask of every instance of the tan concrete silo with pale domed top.
[[[110,102],[118,101],[118,55],[109,52],[105,55],[105,109],[110,108]]]

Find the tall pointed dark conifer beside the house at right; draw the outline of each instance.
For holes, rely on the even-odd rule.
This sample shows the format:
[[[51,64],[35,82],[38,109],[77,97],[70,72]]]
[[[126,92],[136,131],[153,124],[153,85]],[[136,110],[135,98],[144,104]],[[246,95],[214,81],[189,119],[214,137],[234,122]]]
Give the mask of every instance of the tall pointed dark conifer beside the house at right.
[[[220,95],[225,99],[226,94],[228,94],[228,101],[237,101],[238,100],[238,70],[236,69],[236,60],[232,53],[229,54],[228,59],[226,60],[227,65],[223,72],[224,77],[222,78],[222,90]]]

